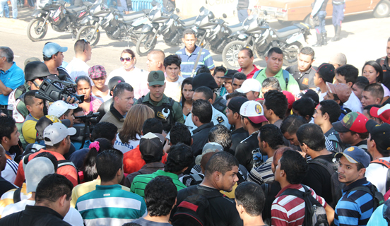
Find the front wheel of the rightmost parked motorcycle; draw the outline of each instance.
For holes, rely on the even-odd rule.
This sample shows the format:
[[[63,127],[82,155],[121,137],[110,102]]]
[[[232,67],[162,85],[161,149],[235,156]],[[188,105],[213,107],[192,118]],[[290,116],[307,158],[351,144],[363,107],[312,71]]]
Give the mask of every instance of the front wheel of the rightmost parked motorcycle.
[[[225,48],[223,48],[223,64],[225,64],[228,69],[240,69],[240,65],[238,64],[238,53],[240,52],[240,49],[244,47],[244,44],[245,42],[233,41],[229,42]]]

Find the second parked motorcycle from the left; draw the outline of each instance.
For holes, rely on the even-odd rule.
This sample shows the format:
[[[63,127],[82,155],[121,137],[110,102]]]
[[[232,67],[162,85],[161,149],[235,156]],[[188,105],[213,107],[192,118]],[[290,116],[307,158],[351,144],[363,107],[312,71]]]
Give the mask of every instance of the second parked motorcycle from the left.
[[[91,46],[98,44],[100,40],[100,28],[105,30],[111,40],[131,41],[136,43],[141,36],[141,29],[148,22],[148,11],[129,13],[123,15],[114,7],[96,1],[90,8],[90,16],[84,18],[81,24],[93,21],[95,25],[86,25],[78,31],[77,39],[85,39]]]

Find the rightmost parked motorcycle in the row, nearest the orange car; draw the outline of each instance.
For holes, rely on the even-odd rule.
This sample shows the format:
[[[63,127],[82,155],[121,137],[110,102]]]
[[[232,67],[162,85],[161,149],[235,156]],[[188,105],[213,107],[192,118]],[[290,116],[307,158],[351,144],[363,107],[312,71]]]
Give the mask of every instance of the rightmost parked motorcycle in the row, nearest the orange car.
[[[297,64],[302,43],[307,42],[307,36],[310,35],[309,29],[310,25],[306,23],[295,23],[275,30],[264,18],[259,18],[256,14],[251,15],[244,20],[242,30],[230,35],[237,37],[237,40],[230,42],[223,49],[223,63],[228,69],[239,69],[238,52],[243,47],[249,47],[261,59],[265,59],[269,49],[279,47],[283,51],[283,64],[292,66]]]

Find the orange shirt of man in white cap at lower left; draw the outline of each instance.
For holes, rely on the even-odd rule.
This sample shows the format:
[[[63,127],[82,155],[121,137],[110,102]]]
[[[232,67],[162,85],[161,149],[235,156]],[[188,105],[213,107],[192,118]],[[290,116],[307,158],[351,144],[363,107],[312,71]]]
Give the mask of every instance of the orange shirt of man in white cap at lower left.
[[[29,161],[32,160],[32,158],[34,158],[36,155],[38,155],[39,153],[42,153],[42,152],[51,153],[52,155],[54,155],[57,158],[58,161],[65,160],[65,157],[63,155],[61,155],[60,153],[56,153],[56,152],[51,151],[51,150],[43,150],[43,149],[41,149],[37,153],[29,155],[28,160]],[[76,186],[78,184],[77,183],[76,168],[71,166],[71,165],[65,165],[63,167],[59,167],[57,169],[57,174],[64,175],[66,178],[68,178],[72,182],[73,186]],[[15,179],[15,182],[13,184],[15,184],[16,186],[22,186],[24,181],[25,181],[25,174],[24,174],[24,169],[23,169],[23,160],[20,160],[19,166],[18,166],[18,173],[16,174],[16,179]]]

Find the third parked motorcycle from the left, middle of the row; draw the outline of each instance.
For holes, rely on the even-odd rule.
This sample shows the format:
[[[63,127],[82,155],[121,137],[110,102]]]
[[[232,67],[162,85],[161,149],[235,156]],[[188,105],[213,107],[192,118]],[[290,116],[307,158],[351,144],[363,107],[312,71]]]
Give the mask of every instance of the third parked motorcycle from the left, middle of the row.
[[[161,4],[155,4],[149,13],[150,24],[143,25],[143,35],[136,44],[137,54],[146,56],[150,50],[154,49],[159,35],[163,36],[165,44],[170,47],[182,44],[184,30],[194,25],[196,16],[181,20],[173,13],[167,13]]]

